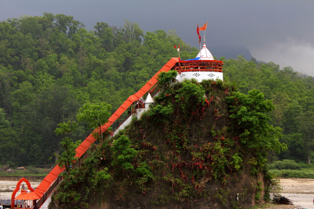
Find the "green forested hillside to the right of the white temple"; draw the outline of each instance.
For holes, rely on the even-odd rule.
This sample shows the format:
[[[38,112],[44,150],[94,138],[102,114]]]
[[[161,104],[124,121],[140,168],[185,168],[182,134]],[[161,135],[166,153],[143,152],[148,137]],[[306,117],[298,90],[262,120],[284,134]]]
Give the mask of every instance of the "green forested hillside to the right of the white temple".
[[[269,113],[271,124],[283,129],[284,136],[280,142],[288,147],[286,152],[279,154],[279,159],[308,162],[313,146],[307,144],[311,140],[303,140],[304,135],[300,137],[304,132],[298,129],[298,124],[303,121],[299,117],[310,110],[313,103],[313,77],[295,72],[291,67],[279,69],[279,65],[273,62],[258,63],[254,59],[248,62],[241,56],[224,63],[224,80],[238,83],[241,93],[259,89],[266,99],[272,99],[275,109]]]

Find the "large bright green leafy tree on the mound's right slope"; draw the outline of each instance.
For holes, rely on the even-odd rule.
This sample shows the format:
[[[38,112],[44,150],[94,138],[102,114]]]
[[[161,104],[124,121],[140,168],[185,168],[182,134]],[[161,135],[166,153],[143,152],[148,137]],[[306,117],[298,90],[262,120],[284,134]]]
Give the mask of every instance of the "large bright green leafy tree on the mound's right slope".
[[[273,105],[270,100],[264,100],[263,93],[254,89],[247,95],[236,92],[226,99],[233,127],[240,130],[236,134],[239,134],[243,146],[256,150],[258,167],[264,167],[266,162],[263,159],[268,150],[277,153],[286,150],[286,145],[279,142],[282,137],[280,128],[268,124],[269,116],[266,113],[272,110]],[[253,174],[256,171],[253,168]]]

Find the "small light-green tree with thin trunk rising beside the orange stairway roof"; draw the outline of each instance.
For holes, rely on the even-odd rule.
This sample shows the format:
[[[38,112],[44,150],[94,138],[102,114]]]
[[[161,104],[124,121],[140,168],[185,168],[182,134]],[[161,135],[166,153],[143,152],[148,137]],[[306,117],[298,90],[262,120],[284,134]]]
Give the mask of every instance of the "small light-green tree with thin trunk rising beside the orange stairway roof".
[[[87,123],[88,128],[99,127],[99,135],[103,141],[101,134],[101,125],[108,122],[111,113],[111,105],[105,102],[86,103],[78,110],[76,118],[79,122]]]

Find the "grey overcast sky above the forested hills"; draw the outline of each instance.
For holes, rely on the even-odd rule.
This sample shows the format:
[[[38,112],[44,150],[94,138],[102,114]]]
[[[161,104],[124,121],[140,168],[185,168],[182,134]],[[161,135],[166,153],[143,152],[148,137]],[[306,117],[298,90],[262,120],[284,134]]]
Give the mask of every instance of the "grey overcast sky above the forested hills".
[[[96,22],[144,31],[177,31],[198,47],[197,24],[208,21],[206,45],[214,56],[252,55],[280,68],[314,76],[313,0],[0,0],[0,20],[44,12],[71,15],[92,30]],[[202,34],[201,34],[202,35]]]

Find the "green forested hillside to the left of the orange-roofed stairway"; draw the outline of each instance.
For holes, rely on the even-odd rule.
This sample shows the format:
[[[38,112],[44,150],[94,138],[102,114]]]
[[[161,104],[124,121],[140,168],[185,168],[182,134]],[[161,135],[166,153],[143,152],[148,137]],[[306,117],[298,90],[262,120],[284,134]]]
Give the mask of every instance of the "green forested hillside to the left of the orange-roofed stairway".
[[[75,121],[83,104],[116,110],[168,60],[195,57],[176,34],[95,21],[93,31],[64,14],[44,13],[0,22],[0,165],[51,165],[62,152],[57,124]],[[91,130],[80,124],[72,138]]]

